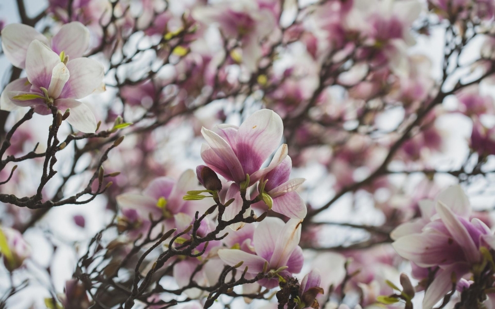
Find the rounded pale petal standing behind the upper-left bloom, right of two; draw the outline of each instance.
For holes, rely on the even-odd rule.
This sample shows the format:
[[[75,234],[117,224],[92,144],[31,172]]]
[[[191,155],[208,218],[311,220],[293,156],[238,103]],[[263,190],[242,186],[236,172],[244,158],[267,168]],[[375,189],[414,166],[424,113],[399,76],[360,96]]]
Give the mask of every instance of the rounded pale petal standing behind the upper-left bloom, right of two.
[[[82,57],[90,45],[90,31],[78,21],[63,25],[51,39],[51,49],[60,54],[62,51],[69,60]]]

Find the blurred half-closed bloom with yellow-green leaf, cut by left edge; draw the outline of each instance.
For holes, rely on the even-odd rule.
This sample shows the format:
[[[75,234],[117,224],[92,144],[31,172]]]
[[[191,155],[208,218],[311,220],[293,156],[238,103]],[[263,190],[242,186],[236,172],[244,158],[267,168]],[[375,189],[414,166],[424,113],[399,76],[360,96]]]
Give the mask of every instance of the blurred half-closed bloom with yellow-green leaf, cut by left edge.
[[[0,254],[8,271],[19,268],[31,256],[31,247],[22,234],[13,228],[0,228]]]

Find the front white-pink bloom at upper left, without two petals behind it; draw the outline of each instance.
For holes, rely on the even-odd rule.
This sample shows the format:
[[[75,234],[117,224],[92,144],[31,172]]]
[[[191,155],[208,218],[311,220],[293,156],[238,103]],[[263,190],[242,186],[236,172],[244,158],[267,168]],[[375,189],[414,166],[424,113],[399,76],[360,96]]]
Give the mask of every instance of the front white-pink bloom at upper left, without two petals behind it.
[[[62,59],[63,58],[63,59]],[[76,99],[90,95],[101,84],[103,66],[96,60],[76,58],[66,61],[38,40],[29,44],[26,53],[26,75],[8,84],[0,97],[0,108],[11,111],[16,106],[34,107],[47,115],[53,105],[62,112],[70,109],[67,122],[85,133],[96,131],[91,109]]]

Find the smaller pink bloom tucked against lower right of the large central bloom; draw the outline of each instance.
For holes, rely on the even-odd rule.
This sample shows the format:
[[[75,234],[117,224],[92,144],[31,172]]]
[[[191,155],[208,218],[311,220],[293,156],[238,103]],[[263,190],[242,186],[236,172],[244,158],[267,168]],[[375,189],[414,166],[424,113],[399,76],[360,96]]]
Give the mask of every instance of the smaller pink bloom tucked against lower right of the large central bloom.
[[[274,212],[289,218],[304,219],[306,217],[306,204],[296,192],[296,189],[306,180],[304,178],[294,178],[289,180],[292,170],[291,157],[287,156],[282,163],[266,174],[260,181],[266,179],[262,194],[270,196]],[[259,202],[262,203],[262,202]]]

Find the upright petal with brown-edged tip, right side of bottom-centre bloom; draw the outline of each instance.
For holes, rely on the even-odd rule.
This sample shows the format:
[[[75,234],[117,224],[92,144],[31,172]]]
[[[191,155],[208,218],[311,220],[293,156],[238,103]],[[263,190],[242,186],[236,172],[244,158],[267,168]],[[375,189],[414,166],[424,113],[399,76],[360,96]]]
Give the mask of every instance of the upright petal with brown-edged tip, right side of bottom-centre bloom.
[[[291,219],[285,224],[270,258],[270,267],[279,268],[287,265],[301,238],[301,222],[302,220],[299,219]]]

